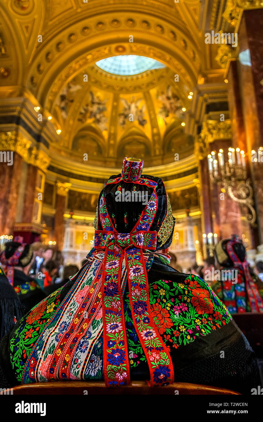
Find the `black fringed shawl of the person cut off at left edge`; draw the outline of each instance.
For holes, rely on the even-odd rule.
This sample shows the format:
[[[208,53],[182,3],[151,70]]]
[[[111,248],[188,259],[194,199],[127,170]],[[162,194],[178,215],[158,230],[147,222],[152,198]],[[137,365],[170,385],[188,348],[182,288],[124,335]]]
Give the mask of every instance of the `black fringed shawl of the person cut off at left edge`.
[[[22,302],[0,267],[0,338],[13,328],[24,314]]]

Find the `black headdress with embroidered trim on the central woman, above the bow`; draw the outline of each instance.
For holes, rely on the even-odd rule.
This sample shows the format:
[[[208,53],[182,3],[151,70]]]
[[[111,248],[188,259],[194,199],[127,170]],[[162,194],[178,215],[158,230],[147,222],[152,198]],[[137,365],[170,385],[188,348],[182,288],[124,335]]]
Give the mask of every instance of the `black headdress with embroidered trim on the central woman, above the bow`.
[[[143,160],[123,160],[122,173],[111,176],[100,192],[94,227],[102,230],[103,226],[110,228],[112,225],[118,232],[130,232],[140,219],[136,231],[138,227],[141,230],[156,231],[156,250],[166,249],[173,240],[175,223],[170,200],[162,179],[143,175],[142,168]],[[108,209],[108,221],[105,221],[100,208],[105,206]]]

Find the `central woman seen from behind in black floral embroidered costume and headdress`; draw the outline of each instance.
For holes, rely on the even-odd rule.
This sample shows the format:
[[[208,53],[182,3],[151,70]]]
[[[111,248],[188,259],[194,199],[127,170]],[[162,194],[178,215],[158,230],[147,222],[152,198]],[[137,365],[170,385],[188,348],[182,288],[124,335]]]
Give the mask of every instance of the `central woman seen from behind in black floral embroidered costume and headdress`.
[[[171,205],[163,181],[142,167],[124,159],[100,193],[87,263],[3,338],[0,387],[146,379],[245,390],[258,382],[252,349],[223,303],[198,276],[168,265]]]

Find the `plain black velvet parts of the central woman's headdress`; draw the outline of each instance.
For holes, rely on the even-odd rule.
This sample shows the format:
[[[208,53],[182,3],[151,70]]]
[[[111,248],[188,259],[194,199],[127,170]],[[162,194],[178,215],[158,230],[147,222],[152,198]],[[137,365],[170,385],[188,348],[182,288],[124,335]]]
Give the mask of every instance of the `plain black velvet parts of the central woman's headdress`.
[[[121,176],[121,174],[111,176],[109,179],[116,179],[117,177]],[[149,176],[149,175],[142,175],[146,179],[155,181],[157,183],[156,193],[158,198],[158,207],[155,214],[155,218],[152,222],[151,227],[149,228],[150,231],[157,231],[163,223],[165,216],[167,214],[167,196],[164,183],[162,179],[159,177]],[[139,217],[141,216],[142,211],[144,210],[146,204],[143,202],[118,202],[116,201],[115,192],[117,191],[117,187],[121,187],[124,189],[125,192],[132,192],[133,187],[136,186],[137,191],[144,191],[148,193],[148,200],[152,195],[154,190],[153,187],[147,187],[145,185],[140,185],[133,182],[125,182],[121,180],[117,184],[108,184],[103,190],[100,192],[99,200],[98,200],[98,209],[100,208],[100,198],[104,195],[106,200],[106,206],[108,213],[111,217],[111,222],[115,227],[116,223],[116,230],[119,233],[130,233],[133,227],[136,225]],[[122,191],[121,191],[122,192]],[[126,222],[125,222],[126,219]],[[114,221],[115,220],[115,221]],[[98,215],[98,230],[103,230],[102,224],[100,222],[100,216]],[[157,250],[158,249],[165,249],[171,245],[172,238],[173,238],[174,226],[171,230],[171,235],[169,236],[167,242],[161,245],[161,242],[158,240],[157,237]]]

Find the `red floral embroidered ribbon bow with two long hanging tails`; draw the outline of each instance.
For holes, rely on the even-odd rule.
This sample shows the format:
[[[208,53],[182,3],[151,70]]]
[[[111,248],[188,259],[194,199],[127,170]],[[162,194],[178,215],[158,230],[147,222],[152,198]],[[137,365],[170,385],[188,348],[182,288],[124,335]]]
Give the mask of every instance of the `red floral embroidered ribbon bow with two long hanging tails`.
[[[155,231],[117,233],[95,231],[95,248],[105,249],[103,260],[103,354],[107,387],[130,383],[127,338],[120,288],[123,257],[127,268],[134,327],[149,365],[150,383],[174,382],[174,368],[168,349],[151,317],[148,278],[143,252],[156,249]]]

